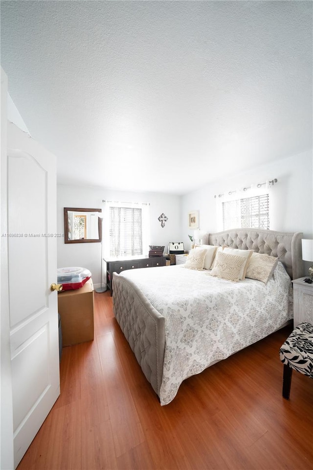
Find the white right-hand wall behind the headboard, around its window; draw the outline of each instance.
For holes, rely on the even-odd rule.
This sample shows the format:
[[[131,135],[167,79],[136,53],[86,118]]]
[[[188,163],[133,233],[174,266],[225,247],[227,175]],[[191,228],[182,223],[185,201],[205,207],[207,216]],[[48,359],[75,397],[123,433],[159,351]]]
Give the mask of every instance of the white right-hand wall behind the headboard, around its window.
[[[218,163],[217,163],[218,164]],[[200,228],[205,232],[217,232],[215,194],[228,193],[236,188],[263,183],[277,178],[270,190],[270,229],[284,232],[303,232],[304,238],[313,238],[313,156],[312,151],[285,158],[253,171],[232,178],[209,183],[182,196],[181,234],[188,240],[188,212],[200,211]],[[246,193],[248,196],[248,191]]]

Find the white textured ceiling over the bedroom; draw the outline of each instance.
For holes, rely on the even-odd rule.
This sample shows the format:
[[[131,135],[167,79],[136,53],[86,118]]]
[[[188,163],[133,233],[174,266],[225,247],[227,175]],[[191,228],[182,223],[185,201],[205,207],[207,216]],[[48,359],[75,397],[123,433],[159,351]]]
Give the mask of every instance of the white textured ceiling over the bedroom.
[[[1,1],[1,66],[59,183],[183,194],[312,148],[312,9]]]

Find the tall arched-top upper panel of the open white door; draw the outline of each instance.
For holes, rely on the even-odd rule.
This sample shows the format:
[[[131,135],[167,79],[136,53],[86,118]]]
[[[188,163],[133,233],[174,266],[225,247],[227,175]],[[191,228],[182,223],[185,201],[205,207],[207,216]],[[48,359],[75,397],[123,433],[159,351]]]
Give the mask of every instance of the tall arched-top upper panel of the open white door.
[[[42,261],[47,256],[48,243],[45,236],[47,171],[25,151],[8,153],[8,201],[10,326],[13,328],[47,305],[47,265]],[[19,295],[16,295],[17,286]]]

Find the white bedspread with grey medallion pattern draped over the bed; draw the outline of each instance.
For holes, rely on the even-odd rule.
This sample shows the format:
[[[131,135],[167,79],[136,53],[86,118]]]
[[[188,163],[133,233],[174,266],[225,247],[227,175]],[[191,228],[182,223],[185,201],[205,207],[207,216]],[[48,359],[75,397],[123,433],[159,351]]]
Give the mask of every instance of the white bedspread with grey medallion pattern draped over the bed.
[[[183,265],[122,273],[165,317],[161,405],[174,399],[185,378],[266,337],[293,316],[291,280],[281,263],[267,284],[229,282],[208,273]]]

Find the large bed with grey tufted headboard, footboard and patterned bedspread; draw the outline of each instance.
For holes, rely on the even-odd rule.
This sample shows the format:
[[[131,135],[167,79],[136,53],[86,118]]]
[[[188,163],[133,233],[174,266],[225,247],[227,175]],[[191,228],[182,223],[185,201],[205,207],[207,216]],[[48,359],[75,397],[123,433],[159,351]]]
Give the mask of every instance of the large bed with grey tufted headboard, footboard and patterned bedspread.
[[[301,239],[301,233],[262,229],[204,235],[204,245],[278,258],[266,283],[230,282],[184,265],[113,274],[114,316],[161,405],[189,376],[288,324],[291,279],[303,275]]]

